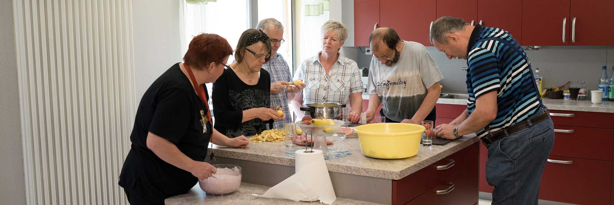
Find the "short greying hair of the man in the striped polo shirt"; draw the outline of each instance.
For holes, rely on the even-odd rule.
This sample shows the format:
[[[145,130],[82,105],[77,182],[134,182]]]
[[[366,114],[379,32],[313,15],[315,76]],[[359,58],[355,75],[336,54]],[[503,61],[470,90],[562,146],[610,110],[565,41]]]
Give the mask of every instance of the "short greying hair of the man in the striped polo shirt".
[[[440,44],[447,45],[448,39],[446,34],[463,31],[468,25],[462,18],[448,16],[438,18],[433,23],[433,27],[430,28],[430,39],[434,40],[433,43],[437,41]]]

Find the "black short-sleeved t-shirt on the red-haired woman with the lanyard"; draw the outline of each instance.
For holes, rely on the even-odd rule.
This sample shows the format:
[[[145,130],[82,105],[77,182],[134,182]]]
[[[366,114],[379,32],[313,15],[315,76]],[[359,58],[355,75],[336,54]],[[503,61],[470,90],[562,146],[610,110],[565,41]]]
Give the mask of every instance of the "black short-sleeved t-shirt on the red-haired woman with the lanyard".
[[[206,96],[209,94],[204,88]],[[161,160],[147,148],[149,132],[173,142],[192,158],[203,161],[212,134],[211,123],[203,133],[200,110],[204,104],[188,77],[174,64],[147,89],[136,111],[130,135],[130,152],[123,163],[119,185],[139,198],[160,201],[169,196],[186,193],[198,178]]]

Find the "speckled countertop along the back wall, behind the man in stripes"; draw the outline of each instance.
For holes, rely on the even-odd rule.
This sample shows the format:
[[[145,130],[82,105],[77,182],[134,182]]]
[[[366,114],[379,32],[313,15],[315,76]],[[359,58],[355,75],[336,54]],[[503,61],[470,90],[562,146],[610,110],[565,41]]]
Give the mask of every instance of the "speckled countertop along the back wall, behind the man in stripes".
[[[542,98],[543,104],[551,110],[569,110],[585,112],[610,112],[614,113],[614,101],[603,101],[601,104],[593,104],[588,100],[570,101],[565,99]],[[445,99],[439,98],[440,104],[462,104],[466,105],[466,99]]]

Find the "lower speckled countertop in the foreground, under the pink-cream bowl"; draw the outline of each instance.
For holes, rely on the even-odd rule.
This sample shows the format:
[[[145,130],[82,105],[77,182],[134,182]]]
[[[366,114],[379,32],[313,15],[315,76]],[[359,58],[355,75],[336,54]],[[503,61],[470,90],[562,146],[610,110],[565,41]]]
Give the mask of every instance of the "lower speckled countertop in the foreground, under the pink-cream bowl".
[[[250,184],[246,182],[241,183],[241,187],[232,195],[228,196],[207,196],[204,191],[196,184],[188,193],[183,195],[173,196],[164,201],[167,205],[189,205],[189,204],[250,204],[250,205],[265,205],[265,204],[297,204],[297,205],[305,205],[309,203],[305,202],[295,202],[289,199],[269,199],[262,198],[259,196],[254,196],[252,194],[262,195],[268,190],[267,186]],[[311,204],[320,204],[318,202],[314,202]],[[337,198],[333,203],[335,205],[371,205],[376,203],[369,203],[365,201],[356,201],[352,199],[344,199]]]

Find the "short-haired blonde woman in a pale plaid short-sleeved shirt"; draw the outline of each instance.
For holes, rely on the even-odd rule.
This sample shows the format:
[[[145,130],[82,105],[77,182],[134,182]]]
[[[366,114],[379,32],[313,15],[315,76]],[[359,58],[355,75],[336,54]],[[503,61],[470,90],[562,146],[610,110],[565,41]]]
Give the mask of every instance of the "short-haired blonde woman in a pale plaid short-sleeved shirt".
[[[344,113],[350,122],[359,122],[362,112],[362,81],[358,64],[341,56],[339,50],[348,38],[348,26],[328,20],[321,29],[322,51],[308,58],[297,69],[294,80],[303,79],[305,90],[292,100],[292,109],[301,118],[300,107],[310,103],[348,104]]]

